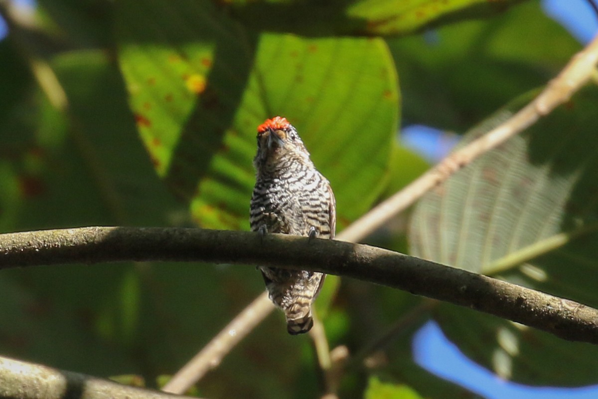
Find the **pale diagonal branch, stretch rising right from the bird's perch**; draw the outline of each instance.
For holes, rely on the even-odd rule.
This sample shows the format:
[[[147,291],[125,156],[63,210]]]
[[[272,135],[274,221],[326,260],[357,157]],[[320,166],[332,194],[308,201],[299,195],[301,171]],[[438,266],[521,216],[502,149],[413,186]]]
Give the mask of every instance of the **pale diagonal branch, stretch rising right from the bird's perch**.
[[[560,74],[532,102],[507,121],[468,145],[447,156],[437,166],[411,182],[403,190],[380,203],[376,208],[343,230],[344,240],[358,241],[382,226],[390,218],[408,208],[432,188],[486,151],[505,142],[566,102],[593,75],[598,62],[598,35],[575,54]]]

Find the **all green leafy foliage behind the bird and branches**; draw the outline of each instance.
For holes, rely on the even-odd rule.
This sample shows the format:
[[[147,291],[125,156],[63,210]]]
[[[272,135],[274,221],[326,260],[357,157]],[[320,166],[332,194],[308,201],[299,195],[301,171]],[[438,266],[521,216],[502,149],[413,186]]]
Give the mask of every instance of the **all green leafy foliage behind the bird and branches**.
[[[0,11],[2,232],[246,230],[255,127],[274,115],[297,126],[331,181],[341,230],[428,169],[399,127],[460,134],[487,118],[471,139],[580,49],[535,0],[39,0],[30,13],[3,0]],[[410,223],[393,218],[367,242],[598,306],[597,106],[595,86],[584,90],[426,196]],[[558,234],[572,239],[548,245]],[[152,386],[263,290],[251,267],[3,270],[0,353],[139,374]],[[429,319],[505,379],[598,382],[589,345],[348,279],[329,279],[324,295],[331,348],[346,345],[359,360],[344,371],[341,397],[475,397],[414,363],[411,339]],[[309,337],[288,336],[274,313],[198,393],[311,398],[319,389]]]

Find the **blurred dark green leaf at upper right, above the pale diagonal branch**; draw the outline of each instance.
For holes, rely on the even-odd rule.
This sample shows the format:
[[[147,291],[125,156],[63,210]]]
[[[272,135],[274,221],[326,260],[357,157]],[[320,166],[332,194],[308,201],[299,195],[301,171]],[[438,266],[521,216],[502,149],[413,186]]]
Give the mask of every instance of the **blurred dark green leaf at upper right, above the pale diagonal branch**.
[[[493,19],[387,41],[401,76],[404,123],[457,132],[545,84],[581,49],[536,0]]]

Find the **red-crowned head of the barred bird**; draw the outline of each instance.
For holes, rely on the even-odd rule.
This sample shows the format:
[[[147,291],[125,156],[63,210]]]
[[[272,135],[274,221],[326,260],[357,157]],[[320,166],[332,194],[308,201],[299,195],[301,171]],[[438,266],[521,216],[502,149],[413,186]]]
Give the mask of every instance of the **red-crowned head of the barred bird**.
[[[258,152],[254,165],[260,169],[288,167],[292,162],[309,162],[309,153],[286,118],[267,119],[258,126]]]

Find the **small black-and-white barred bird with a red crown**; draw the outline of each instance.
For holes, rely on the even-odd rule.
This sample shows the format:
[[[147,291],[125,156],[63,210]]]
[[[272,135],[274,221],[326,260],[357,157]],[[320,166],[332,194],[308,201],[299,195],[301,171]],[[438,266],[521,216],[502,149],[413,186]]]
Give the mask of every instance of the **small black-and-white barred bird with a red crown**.
[[[251,197],[251,230],[266,233],[334,238],[336,204],[328,180],[316,170],[297,130],[286,118],[274,117],[258,126],[257,171]],[[273,303],[286,316],[291,335],[313,326],[312,303],[324,273],[259,269]]]

